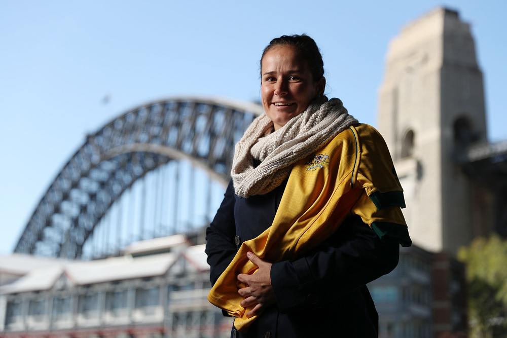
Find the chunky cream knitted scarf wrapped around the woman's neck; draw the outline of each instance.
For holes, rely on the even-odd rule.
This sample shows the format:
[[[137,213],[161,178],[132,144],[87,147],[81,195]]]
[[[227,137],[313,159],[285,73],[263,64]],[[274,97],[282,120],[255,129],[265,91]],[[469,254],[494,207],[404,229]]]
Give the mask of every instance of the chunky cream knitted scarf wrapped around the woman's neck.
[[[263,112],[253,120],[236,143],[231,176],[236,195],[264,195],[280,185],[291,173],[292,164],[331,141],[358,123],[342,101],[317,97],[300,115],[273,131],[273,122]],[[262,161],[254,167],[254,160]]]

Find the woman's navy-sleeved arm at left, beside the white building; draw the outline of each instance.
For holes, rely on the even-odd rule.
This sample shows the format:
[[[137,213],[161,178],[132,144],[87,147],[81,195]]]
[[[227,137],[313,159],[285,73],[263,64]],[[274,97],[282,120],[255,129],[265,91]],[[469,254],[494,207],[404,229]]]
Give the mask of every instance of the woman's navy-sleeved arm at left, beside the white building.
[[[234,222],[234,186],[232,180],[227,186],[224,200],[213,221],[206,229],[206,254],[210,266],[209,279],[214,284],[225,271],[236,254],[236,225]]]

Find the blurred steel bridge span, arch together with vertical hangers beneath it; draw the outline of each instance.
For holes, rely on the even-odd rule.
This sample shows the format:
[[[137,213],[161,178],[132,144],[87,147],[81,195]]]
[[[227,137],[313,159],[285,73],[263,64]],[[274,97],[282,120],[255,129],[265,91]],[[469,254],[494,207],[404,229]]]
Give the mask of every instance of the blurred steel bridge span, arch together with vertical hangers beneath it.
[[[229,180],[234,144],[255,103],[175,97],[107,123],[56,176],[16,253],[93,259],[205,226]]]

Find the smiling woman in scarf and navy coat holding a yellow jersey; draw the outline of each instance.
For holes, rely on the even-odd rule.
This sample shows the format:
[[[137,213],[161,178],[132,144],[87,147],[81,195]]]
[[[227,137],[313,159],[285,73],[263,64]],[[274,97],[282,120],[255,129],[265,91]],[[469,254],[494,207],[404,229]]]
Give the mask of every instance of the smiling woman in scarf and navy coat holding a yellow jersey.
[[[378,132],[323,96],[307,35],[261,58],[265,114],[236,144],[232,180],[206,232],[208,299],[236,337],[375,337],[366,283],[411,244],[403,193]]]

